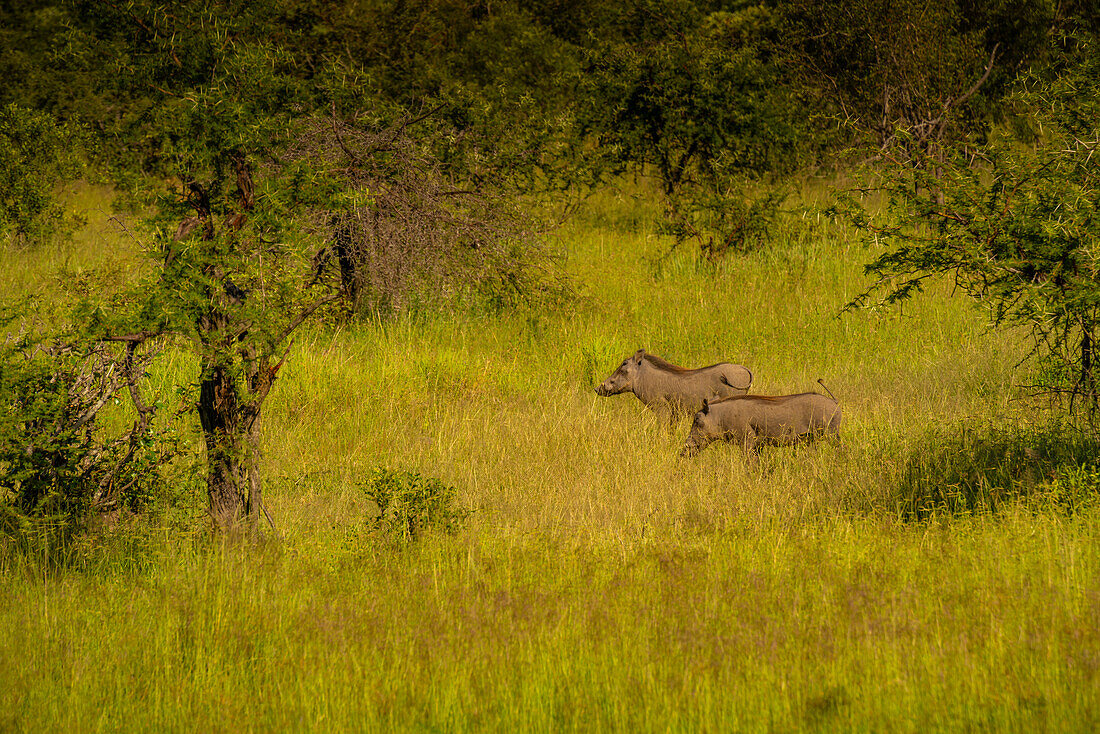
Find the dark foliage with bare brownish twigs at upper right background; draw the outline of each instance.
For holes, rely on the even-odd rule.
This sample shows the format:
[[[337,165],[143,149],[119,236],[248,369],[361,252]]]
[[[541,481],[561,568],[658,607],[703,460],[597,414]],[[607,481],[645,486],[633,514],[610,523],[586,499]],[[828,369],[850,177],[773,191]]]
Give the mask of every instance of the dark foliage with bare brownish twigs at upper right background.
[[[982,134],[1026,64],[1043,58],[1044,0],[787,0],[781,52],[833,145],[927,153]],[[908,134],[898,136],[903,129]]]

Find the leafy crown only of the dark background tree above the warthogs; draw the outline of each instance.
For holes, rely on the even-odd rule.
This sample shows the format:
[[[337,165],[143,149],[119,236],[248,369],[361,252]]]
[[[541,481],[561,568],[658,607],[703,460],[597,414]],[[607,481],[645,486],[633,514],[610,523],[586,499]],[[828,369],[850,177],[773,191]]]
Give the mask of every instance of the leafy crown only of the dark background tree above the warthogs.
[[[691,3],[629,3],[638,37],[590,52],[582,129],[616,166],[652,165],[666,195],[789,166],[798,125],[762,47],[760,9],[702,14]]]

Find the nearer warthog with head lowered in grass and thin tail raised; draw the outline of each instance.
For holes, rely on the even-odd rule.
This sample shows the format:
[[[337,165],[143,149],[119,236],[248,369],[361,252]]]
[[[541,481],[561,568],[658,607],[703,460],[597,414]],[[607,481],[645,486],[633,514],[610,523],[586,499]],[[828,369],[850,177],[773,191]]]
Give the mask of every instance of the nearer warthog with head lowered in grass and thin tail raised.
[[[840,406],[833,397],[820,393],[739,395],[703,404],[680,456],[693,457],[712,441],[730,441],[752,451],[760,443],[796,443],[839,430]]]

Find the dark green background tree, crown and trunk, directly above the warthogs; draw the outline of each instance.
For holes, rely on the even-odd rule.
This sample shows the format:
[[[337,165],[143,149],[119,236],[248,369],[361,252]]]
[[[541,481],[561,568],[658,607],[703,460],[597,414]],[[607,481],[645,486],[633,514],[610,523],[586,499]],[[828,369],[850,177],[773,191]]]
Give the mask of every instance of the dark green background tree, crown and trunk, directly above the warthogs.
[[[746,184],[794,169],[809,150],[772,58],[773,14],[707,13],[679,0],[619,12],[624,35],[588,50],[581,85],[592,156],[613,174],[656,173],[678,242],[694,238],[712,254],[748,247],[756,234],[746,222],[767,219],[779,198],[746,204]]]

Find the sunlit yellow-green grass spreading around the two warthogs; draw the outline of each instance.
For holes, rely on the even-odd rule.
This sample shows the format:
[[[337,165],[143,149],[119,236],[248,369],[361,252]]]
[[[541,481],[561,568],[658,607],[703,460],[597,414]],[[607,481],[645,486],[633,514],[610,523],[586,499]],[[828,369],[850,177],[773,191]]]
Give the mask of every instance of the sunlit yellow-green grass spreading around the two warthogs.
[[[134,267],[101,195],[81,196],[88,227],[4,252],[6,288]],[[1020,335],[947,284],[838,318],[871,253],[815,215],[710,267],[658,263],[648,210],[608,194],[560,232],[572,307],[299,339],[265,415],[285,543],[209,537],[183,467],[170,505],[112,518],[62,570],[4,556],[0,728],[1100,726],[1098,512],[1055,501],[1068,464],[1036,459],[996,512],[906,505],[917,485],[963,491],[937,467],[981,485],[998,450],[1010,464],[1049,436],[1014,386]],[[745,363],[758,393],[823,377],[844,440],[683,460],[685,425],[592,391],[639,347]],[[191,366],[169,354],[162,396]],[[361,482],[380,465],[458,487],[464,529],[372,533]]]

